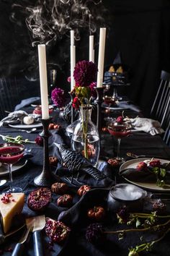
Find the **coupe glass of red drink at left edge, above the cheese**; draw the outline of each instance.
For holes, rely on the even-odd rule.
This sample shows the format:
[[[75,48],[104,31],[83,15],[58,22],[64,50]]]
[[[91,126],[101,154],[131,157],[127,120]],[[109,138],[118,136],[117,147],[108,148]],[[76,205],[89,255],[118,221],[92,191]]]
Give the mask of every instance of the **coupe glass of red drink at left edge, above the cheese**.
[[[7,164],[9,168],[10,187],[4,189],[3,193],[22,192],[21,187],[14,187],[12,182],[12,165],[17,163],[24,155],[24,145],[6,142],[0,144],[0,162]]]

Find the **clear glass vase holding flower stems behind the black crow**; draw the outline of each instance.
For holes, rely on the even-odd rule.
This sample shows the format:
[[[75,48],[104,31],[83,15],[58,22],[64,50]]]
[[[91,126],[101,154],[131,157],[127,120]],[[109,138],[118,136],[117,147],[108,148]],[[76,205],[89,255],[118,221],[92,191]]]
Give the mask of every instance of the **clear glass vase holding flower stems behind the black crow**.
[[[80,107],[80,119],[73,130],[71,147],[97,166],[100,151],[99,133],[91,121],[92,106]]]

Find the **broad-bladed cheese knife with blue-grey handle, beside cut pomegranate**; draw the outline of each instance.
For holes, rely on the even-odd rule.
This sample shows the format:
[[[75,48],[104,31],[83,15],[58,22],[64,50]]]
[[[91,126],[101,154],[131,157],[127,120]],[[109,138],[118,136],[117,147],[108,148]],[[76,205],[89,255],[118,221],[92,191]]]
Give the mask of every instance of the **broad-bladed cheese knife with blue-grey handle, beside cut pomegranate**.
[[[40,231],[45,227],[45,215],[27,218],[26,225],[32,226],[35,256],[43,256]]]

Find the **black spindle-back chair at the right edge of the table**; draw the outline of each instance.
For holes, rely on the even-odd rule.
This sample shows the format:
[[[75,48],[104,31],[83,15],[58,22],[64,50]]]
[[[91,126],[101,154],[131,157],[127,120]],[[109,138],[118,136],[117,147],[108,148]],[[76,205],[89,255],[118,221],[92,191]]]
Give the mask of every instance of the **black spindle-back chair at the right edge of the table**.
[[[170,73],[161,72],[161,82],[151,108],[151,117],[160,121],[161,127],[166,129],[170,118]]]

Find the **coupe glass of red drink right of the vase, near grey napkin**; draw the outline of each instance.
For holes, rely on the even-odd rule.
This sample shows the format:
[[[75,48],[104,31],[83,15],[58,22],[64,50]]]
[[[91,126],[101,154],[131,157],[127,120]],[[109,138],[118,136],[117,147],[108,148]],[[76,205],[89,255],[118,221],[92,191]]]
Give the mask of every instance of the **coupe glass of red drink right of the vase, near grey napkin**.
[[[120,157],[120,142],[123,137],[130,135],[130,128],[130,124],[125,121],[118,122],[116,119],[110,121],[107,127],[109,134],[117,138],[117,156],[113,159],[120,163],[125,162],[125,158]]]

